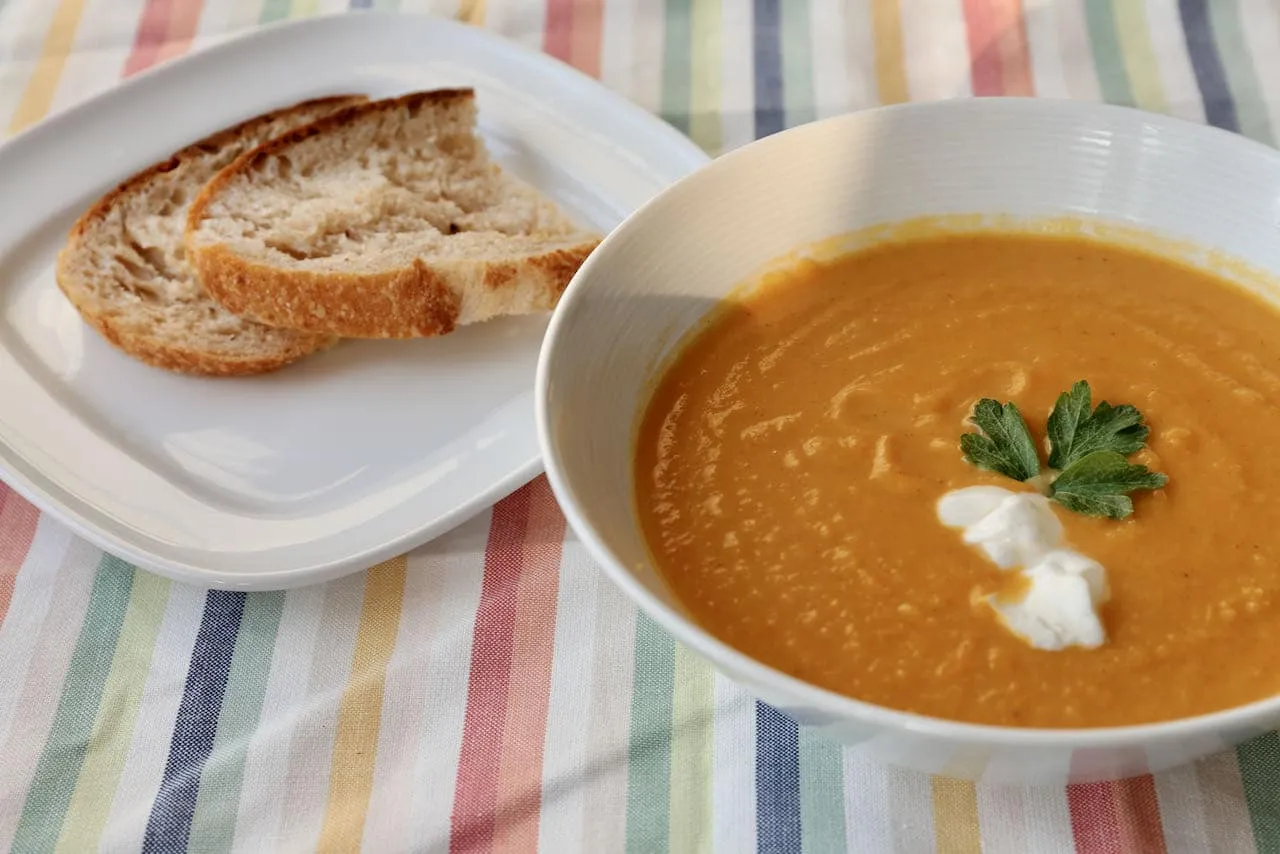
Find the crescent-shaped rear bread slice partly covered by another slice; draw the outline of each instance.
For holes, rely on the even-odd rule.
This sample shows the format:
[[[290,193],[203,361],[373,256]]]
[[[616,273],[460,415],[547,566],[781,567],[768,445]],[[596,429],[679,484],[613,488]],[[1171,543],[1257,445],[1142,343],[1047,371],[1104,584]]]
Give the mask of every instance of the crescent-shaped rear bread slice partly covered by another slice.
[[[255,117],[140,172],[90,207],[58,256],[56,278],[81,316],[124,352],[205,375],[274,370],[333,343],[236,316],[201,287],[183,232],[191,202],[220,169],[285,131],[364,96],[305,101]]]

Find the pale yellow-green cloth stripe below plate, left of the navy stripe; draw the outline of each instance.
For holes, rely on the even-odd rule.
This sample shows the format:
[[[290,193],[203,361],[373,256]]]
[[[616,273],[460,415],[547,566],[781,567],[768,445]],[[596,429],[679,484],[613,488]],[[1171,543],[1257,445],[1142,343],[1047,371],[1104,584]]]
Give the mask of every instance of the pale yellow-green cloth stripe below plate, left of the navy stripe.
[[[133,729],[142,705],[142,690],[151,671],[169,588],[169,580],[159,575],[136,572],[133,576],[129,604],[93,722],[93,735],[63,821],[59,851],[72,854],[97,848],[133,741]],[[99,607],[96,599],[91,607]]]

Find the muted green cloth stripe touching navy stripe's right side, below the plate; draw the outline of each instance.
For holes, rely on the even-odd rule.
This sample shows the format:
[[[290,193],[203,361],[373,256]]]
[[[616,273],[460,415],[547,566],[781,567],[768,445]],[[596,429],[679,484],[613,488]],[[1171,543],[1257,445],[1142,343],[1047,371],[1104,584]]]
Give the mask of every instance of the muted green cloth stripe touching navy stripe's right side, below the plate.
[[[284,597],[282,592],[253,593],[244,602],[227,693],[218,717],[218,734],[200,777],[200,794],[196,796],[196,813],[191,822],[191,845],[195,850],[232,849],[241,784],[244,778],[244,757],[262,711]]]

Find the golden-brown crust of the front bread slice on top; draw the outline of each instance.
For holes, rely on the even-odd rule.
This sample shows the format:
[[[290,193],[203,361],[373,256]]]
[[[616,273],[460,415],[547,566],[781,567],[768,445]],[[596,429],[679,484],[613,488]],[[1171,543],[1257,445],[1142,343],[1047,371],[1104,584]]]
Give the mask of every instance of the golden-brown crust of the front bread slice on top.
[[[370,114],[417,110],[453,101],[471,101],[471,88],[411,92],[383,101],[356,104],[311,124],[294,128],[224,168],[200,192],[187,216],[187,256],[205,289],[229,311],[259,323],[343,338],[420,338],[452,332],[468,323],[468,297],[518,288],[527,311],[556,307],[570,279],[599,245],[591,237],[577,245],[516,260],[452,260],[433,265],[421,257],[404,268],[376,273],[280,269],[237,255],[221,243],[193,239],[210,202],[228,184],[264,160]],[[474,301],[474,300],[471,300]],[[484,318],[475,318],[484,319]]]

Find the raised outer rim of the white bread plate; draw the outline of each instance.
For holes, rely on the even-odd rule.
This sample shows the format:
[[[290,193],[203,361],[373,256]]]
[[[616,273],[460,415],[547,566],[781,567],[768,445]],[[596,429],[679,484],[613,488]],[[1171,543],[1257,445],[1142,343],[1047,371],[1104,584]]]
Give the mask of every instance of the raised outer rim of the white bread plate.
[[[358,23],[357,20],[351,20],[352,18],[356,18]],[[435,28],[444,31],[445,33],[458,35],[463,38],[486,42],[495,51],[515,55],[525,63],[536,64],[570,91],[581,91],[585,88],[593,91],[594,95],[600,99],[612,101],[614,108],[613,114],[627,119],[630,123],[645,125],[650,138],[660,142],[660,145],[669,152],[669,163],[675,164],[676,168],[684,174],[689,174],[712,160],[700,147],[696,146],[696,143],[692,142],[692,140],[682,134],[667,122],[662,120],[660,117],[628,100],[622,93],[604,86],[600,81],[580,72],[572,65],[549,54],[534,50],[492,31],[440,15],[390,10],[348,10],[329,12],[306,18],[280,20],[261,27],[253,27],[239,33],[230,33],[219,37],[214,44],[201,46],[183,56],[148,68],[133,77],[118,81],[106,90],[90,97],[84,97],[67,109],[60,110],[55,115],[51,115],[47,119],[44,119],[9,137],[4,142],[0,142],[0,163],[8,159],[8,156],[13,156],[14,152],[20,152],[26,147],[40,146],[42,140],[49,138],[50,136],[56,136],[67,132],[68,129],[74,129],[77,123],[83,122],[92,111],[109,106],[111,100],[120,97],[125,92],[132,92],[138,87],[145,88],[148,86],[161,86],[163,83],[157,83],[157,81],[163,81],[175,74],[182,74],[193,65],[225,63],[234,58],[233,54],[236,51],[246,50],[246,45],[252,45],[252,42],[270,42],[273,40],[282,38],[287,33],[297,31],[334,27],[338,22],[347,27],[352,24],[364,27],[365,29],[362,31],[352,27],[352,29],[343,35],[344,38],[360,40],[369,38],[370,35],[376,33],[379,28],[396,27],[406,20],[412,20],[412,26],[416,27]],[[297,88],[300,92],[305,92],[306,82],[300,82]],[[541,100],[544,105],[547,104],[545,97],[539,100]],[[120,179],[124,177],[125,175],[122,174]],[[536,360],[536,351],[534,356]],[[29,371],[24,370],[22,373],[29,376]],[[529,392],[532,394],[534,389],[535,382],[531,378],[529,383]],[[180,583],[196,584],[206,588],[232,590],[283,590],[329,581],[335,577],[364,571],[385,560],[410,552],[476,517],[486,508],[492,507],[494,503],[509,495],[512,492],[543,472],[541,453],[536,442],[535,420],[530,421],[529,431],[530,437],[534,439],[531,443],[534,448],[531,457],[524,460],[518,465],[513,465],[504,476],[489,481],[486,485],[477,489],[471,498],[453,506],[449,511],[435,516],[430,522],[402,530],[397,536],[380,542],[375,547],[367,547],[357,553],[347,553],[337,558],[324,560],[321,562],[311,561],[306,563],[283,563],[280,568],[256,571],[251,574],[200,566],[195,562],[195,560],[198,560],[201,553],[207,552],[207,549],[201,547],[179,545],[178,551],[182,553],[180,557],[175,556],[174,558],[169,558],[151,552],[142,543],[133,542],[127,536],[122,536],[111,530],[108,530],[106,528],[102,528],[96,521],[64,501],[63,497],[83,501],[73,487],[63,485],[51,480],[35,461],[27,458],[18,447],[14,447],[12,442],[5,438],[0,438],[0,479],[3,479],[3,483],[13,489],[14,493],[32,503],[42,513],[47,513],[52,519],[56,519],[59,522],[67,525],[73,533],[88,540],[95,547],[124,558],[138,568],[143,568]],[[168,480],[168,478],[165,479]],[[133,524],[125,522],[125,520],[119,519],[114,512],[104,512],[109,519],[122,522],[122,526],[134,528]],[[151,536],[142,529],[140,529],[140,534],[142,534],[143,538]],[[289,547],[284,547],[285,553],[288,548]]]

